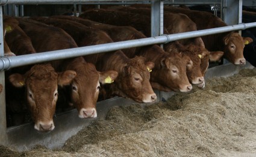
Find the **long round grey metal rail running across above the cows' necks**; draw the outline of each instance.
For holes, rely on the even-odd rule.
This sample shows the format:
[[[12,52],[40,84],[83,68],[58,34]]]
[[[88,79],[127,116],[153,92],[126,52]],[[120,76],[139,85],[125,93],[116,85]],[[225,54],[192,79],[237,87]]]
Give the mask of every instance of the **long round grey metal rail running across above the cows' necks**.
[[[40,62],[54,61],[77,56],[91,55],[95,53],[111,52],[114,50],[128,49],[131,47],[148,46],[151,44],[162,44],[170,41],[182,40],[185,38],[195,38],[204,35],[218,34],[228,31],[252,28],[256,22],[242,23],[239,25],[225,26],[220,28],[204,29],[201,31],[184,32],[180,34],[160,35],[151,38],[142,38],[139,40],[120,41],[116,43],[100,44],[95,46],[78,47],[73,49],[57,50],[54,52],[42,52],[30,55],[13,56],[10,58],[0,58],[0,70],[19,67],[22,65],[38,64]]]

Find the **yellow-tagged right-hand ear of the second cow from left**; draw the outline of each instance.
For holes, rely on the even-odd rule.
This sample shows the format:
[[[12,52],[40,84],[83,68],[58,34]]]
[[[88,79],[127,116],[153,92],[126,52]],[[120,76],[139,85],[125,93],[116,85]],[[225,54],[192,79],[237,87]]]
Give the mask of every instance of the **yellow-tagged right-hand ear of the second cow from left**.
[[[116,80],[117,76],[118,76],[118,73],[117,71],[114,71],[114,70],[99,72],[99,82],[102,84],[112,83],[114,80]]]

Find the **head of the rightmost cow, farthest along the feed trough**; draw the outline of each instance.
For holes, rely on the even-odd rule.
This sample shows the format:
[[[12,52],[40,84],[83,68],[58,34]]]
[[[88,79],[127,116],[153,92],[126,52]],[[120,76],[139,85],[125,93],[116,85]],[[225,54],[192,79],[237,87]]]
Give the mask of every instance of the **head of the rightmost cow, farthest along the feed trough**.
[[[241,37],[238,33],[230,33],[223,38],[224,56],[234,65],[245,65],[246,60],[243,57],[243,48],[245,44],[252,42],[252,38]]]

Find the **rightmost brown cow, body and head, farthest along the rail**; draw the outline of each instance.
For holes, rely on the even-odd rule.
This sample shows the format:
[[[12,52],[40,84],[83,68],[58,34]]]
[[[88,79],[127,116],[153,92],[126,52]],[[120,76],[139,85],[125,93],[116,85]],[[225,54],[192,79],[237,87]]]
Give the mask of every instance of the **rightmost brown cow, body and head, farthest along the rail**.
[[[133,7],[150,7],[150,5],[132,5]],[[193,22],[196,23],[197,29],[210,29],[227,26],[214,14],[206,11],[188,10],[180,7],[164,6],[164,11],[169,13],[186,14]],[[237,32],[224,32],[220,34],[205,35],[202,37],[205,48],[210,51],[223,51],[224,57],[234,65],[245,65],[246,60],[243,56],[243,48],[245,43],[251,43],[252,38],[241,37]]]

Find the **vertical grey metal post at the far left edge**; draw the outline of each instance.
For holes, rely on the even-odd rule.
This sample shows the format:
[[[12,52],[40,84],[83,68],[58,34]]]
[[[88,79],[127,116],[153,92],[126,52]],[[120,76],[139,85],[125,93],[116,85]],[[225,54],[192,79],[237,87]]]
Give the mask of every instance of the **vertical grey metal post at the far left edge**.
[[[4,56],[4,34],[3,34],[3,19],[2,6],[0,5],[0,56]],[[0,144],[7,143],[7,125],[6,125],[6,111],[5,111],[5,81],[4,71],[0,71],[0,84],[3,90],[0,93]]]

